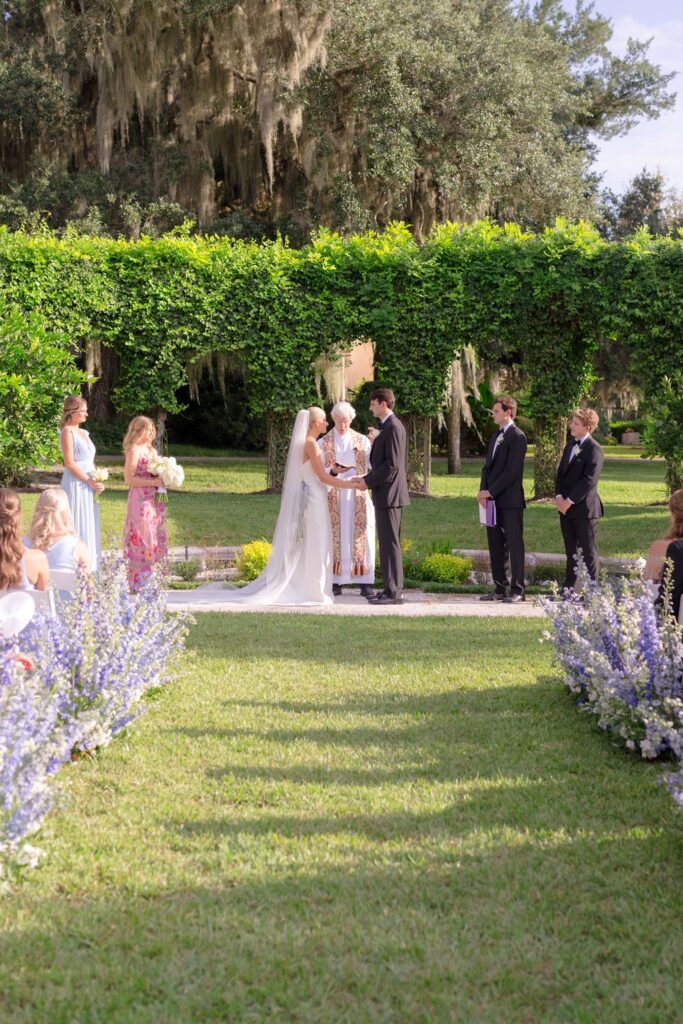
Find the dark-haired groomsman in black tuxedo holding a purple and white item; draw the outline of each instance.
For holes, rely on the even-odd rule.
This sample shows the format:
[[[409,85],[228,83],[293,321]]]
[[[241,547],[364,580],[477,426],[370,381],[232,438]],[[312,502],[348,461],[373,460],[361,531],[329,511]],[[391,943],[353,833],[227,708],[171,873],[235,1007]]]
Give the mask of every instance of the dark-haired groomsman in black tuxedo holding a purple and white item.
[[[516,604],[524,600],[524,457],[526,436],[514,422],[517,402],[503,395],[494,402],[494,423],[499,428],[488,442],[477,501],[482,508],[493,498],[496,525],[486,526],[490,571],[496,590],[482,601]],[[510,594],[508,595],[508,585]]]

